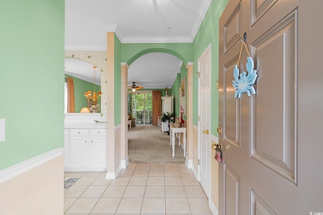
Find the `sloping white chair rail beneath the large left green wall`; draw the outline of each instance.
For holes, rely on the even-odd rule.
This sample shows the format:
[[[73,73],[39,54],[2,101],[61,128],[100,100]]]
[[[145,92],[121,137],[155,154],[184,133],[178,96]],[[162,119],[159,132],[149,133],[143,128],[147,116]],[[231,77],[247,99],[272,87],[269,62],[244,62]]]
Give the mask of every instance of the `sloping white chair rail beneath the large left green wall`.
[[[26,161],[23,161],[14,166],[8,167],[0,171],[0,183],[8,181],[12,178],[17,177],[35,167],[38,167],[50,160],[53,160],[59,156],[62,156],[64,152],[64,148],[60,147],[55,150],[51,150],[44,154],[38,155]]]

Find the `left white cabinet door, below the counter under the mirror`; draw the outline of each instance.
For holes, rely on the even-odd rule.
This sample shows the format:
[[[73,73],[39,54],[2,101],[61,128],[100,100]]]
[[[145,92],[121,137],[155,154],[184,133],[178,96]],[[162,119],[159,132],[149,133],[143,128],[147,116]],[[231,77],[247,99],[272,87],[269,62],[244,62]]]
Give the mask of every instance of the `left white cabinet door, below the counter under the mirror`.
[[[87,138],[71,137],[70,139],[71,167],[89,167],[90,145]]]

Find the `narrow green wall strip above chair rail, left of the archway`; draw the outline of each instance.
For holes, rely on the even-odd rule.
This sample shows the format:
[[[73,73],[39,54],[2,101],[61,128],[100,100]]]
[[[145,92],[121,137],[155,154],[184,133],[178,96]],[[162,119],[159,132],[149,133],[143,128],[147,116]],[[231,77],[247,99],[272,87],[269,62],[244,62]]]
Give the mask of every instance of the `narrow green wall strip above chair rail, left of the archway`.
[[[121,124],[121,62],[121,42],[115,34],[115,125]]]

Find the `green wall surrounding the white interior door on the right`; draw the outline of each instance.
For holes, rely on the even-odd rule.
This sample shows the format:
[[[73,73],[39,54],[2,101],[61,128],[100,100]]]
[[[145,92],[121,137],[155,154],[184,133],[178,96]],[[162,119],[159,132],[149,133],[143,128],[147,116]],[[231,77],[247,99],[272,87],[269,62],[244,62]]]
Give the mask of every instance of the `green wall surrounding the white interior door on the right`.
[[[211,133],[216,136],[218,136],[217,127],[219,124],[219,90],[216,89],[216,81],[219,77],[219,19],[227,3],[228,0],[211,2],[193,42],[193,71],[198,70],[197,60],[211,43]],[[193,73],[193,124],[195,125],[198,125],[197,85],[197,74]]]

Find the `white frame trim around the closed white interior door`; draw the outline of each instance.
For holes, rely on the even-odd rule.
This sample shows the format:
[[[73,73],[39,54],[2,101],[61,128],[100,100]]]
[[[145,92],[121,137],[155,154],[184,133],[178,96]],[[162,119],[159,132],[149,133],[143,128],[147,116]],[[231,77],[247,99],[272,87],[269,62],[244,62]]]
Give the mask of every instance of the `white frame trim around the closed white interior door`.
[[[211,87],[211,43],[209,43],[206,48],[204,49],[204,51],[202,52],[202,54],[199,56],[199,58],[197,59],[197,68],[198,68],[198,81],[197,81],[197,95],[198,95],[198,129],[197,129],[197,133],[198,133],[198,141],[197,141],[197,159],[198,161],[200,161],[200,158],[201,158],[201,126],[200,126],[200,119],[199,117],[201,116],[201,102],[200,102],[200,99],[201,99],[201,91],[200,91],[200,73],[199,73],[199,69],[200,69],[200,61],[201,59],[203,58],[203,56],[206,54],[206,53],[209,53],[209,77],[208,77],[208,86],[209,86],[209,89]],[[211,93],[209,93],[209,101],[211,100]],[[208,111],[209,111],[209,118],[210,118],[210,112],[211,112],[211,103],[209,103],[208,105]],[[209,119],[209,122],[210,122],[210,119]],[[210,131],[210,123],[208,124],[208,130]],[[208,143],[210,144],[211,142],[211,138],[210,138],[210,134],[208,135]],[[209,148],[210,149],[210,148]],[[209,150],[210,151],[210,150]],[[209,155],[211,154],[211,152],[209,152]],[[209,169],[208,169],[208,190],[207,192],[205,193],[207,198],[209,198],[210,196],[210,193],[211,193],[211,187],[210,187],[210,181],[211,181],[211,176],[210,176],[210,173],[211,173],[211,169],[210,169],[210,156],[208,156],[208,159],[207,159],[207,162],[208,162],[208,166],[209,166]],[[200,181],[200,163],[198,162],[198,165],[197,165],[197,180]]]

